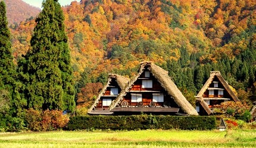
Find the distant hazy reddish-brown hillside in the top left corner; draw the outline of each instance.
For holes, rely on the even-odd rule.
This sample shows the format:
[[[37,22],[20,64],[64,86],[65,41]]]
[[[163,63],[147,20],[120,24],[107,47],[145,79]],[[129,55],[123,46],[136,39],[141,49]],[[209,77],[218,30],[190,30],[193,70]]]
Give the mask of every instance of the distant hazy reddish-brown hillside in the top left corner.
[[[8,24],[20,24],[21,21],[31,19],[39,14],[40,9],[30,6],[21,0],[4,0],[7,5]],[[13,25],[12,27],[15,27]]]

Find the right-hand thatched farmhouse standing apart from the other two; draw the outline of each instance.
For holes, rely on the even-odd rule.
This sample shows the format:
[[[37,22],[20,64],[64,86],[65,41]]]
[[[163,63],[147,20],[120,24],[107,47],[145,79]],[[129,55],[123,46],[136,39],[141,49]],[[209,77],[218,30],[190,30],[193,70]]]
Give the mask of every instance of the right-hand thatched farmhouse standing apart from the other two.
[[[219,71],[210,73],[210,78],[205,82],[201,91],[195,96],[198,101],[196,111],[200,115],[210,115],[214,109],[225,101],[239,101],[238,97],[230,89],[227,82],[223,79]]]

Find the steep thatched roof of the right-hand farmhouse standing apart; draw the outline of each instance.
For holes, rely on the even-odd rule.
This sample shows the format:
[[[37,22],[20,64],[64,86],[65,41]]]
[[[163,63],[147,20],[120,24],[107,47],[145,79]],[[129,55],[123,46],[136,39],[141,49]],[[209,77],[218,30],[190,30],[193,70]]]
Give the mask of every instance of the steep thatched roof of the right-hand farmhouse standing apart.
[[[227,91],[227,93],[231,96],[231,98],[233,99],[233,101],[237,102],[239,101],[238,97],[234,94],[234,92],[230,89],[229,85],[227,84],[227,82],[224,80],[224,78],[221,76],[219,71],[212,71],[210,73],[210,78],[208,78],[208,80],[205,82],[204,86],[202,86],[202,89],[198,92],[198,94],[196,95],[196,98],[198,99],[198,101],[200,102],[200,104],[202,105],[202,107],[204,108],[204,110],[208,113],[208,114],[213,114],[213,112],[210,110],[210,108],[208,107],[207,103],[204,101],[203,99],[203,95],[204,92],[207,91],[207,89],[209,88],[209,86],[211,85],[211,83],[213,82],[214,78],[217,78],[218,81],[220,81],[220,83],[224,86],[224,89]]]

